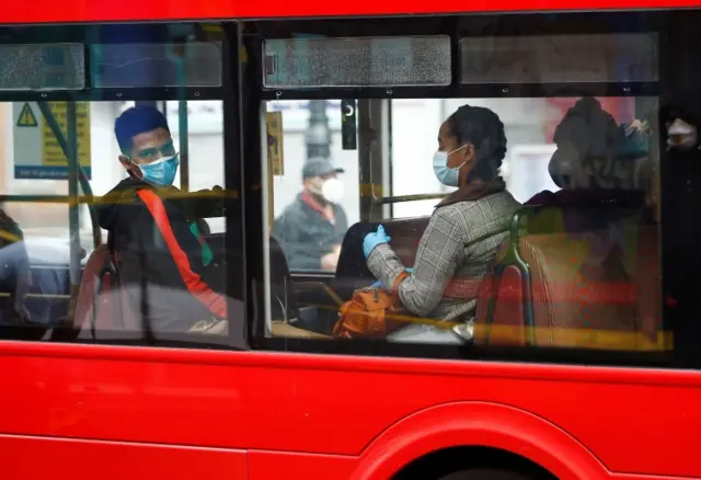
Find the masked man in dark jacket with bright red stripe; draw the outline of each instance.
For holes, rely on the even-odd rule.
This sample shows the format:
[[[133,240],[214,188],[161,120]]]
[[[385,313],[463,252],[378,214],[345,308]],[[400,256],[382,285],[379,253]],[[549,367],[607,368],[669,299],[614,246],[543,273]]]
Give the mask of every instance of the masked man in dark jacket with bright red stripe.
[[[173,186],[179,153],[158,110],[129,108],[114,132],[128,178],[103,197],[97,220],[110,232],[133,311],[152,331],[187,331],[203,320],[226,319],[223,285],[212,281],[222,275],[198,226],[221,215],[221,187],[187,199],[180,195]]]

